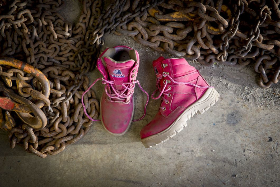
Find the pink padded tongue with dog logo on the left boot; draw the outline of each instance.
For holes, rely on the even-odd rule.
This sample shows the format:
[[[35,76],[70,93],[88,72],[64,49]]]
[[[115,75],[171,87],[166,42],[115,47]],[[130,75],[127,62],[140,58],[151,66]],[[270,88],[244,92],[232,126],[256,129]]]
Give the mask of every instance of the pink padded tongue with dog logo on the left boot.
[[[127,61],[118,62],[110,57],[103,57],[103,59],[107,66],[110,80],[113,80],[115,83],[113,86],[117,90],[122,91],[124,89],[122,83],[130,82],[129,73],[135,61],[130,59]]]

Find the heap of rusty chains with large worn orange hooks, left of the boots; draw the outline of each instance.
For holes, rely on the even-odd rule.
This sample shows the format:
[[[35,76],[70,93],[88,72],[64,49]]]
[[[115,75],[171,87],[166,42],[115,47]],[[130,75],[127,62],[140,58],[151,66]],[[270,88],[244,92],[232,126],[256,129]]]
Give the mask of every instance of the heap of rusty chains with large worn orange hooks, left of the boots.
[[[78,141],[92,126],[80,102],[89,84],[85,73],[99,53],[89,36],[101,1],[81,3],[73,26],[58,13],[61,0],[0,4],[0,128],[9,131],[11,148],[19,144],[45,158]],[[100,112],[95,98],[93,90],[84,97],[92,118]]]

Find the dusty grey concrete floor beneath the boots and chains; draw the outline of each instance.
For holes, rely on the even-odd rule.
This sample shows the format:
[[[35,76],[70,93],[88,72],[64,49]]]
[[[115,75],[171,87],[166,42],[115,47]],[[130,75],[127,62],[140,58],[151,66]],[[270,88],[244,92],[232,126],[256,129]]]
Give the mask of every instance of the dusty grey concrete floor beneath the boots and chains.
[[[160,54],[124,36],[105,36],[105,45],[128,45],[140,54],[138,80],[151,94],[155,75],[151,63]],[[150,100],[146,117],[127,134],[114,137],[101,123],[62,153],[45,159],[9,148],[0,131],[0,186],[280,186],[279,84],[256,85],[252,66],[204,67],[190,62],[216,87],[220,100],[167,142],[144,148],[140,130],[158,111]],[[101,77],[94,70],[90,80]],[[94,90],[100,99],[103,86]],[[146,96],[135,91],[135,118],[141,117]],[[272,140],[272,141],[270,141]]]

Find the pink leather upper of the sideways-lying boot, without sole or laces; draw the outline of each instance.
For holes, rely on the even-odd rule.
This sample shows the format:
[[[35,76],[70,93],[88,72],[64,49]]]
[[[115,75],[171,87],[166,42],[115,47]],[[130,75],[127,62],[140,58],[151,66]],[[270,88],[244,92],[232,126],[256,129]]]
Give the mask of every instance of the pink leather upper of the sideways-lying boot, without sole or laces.
[[[162,64],[167,64],[167,67],[163,68]],[[198,86],[209,86],[198,70],[190,66],[184,58],[164,59],[164,57],[159,57],[153,61],[153,67],[157,77],[162,75],[163,72],[168,72],[172,79],[177,82],[191,82]],[[163,77],[160,80],[160,88],[164,86],[164,79],[170,80],[168,77]],[[207,90],[207,88],[199,89],[186,84],[175,84],[172,81],[167,84],[167,87],[169,86],[171,90],[166,93],[170,93],[171,96],[163,95],[169,103],[166,104],[163,100],[160,105],[165,107],[166,110],[160,109],[154,119],[142,128],[140,132],[141,138],[155,135],[168,128],[186,108],[197,101]]]

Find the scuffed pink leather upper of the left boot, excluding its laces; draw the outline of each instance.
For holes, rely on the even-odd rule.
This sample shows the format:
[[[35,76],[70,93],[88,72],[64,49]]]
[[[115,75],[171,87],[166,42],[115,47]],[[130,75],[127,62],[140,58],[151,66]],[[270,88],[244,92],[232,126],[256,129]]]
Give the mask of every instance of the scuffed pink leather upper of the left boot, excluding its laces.
[[[116,46],[114,48],[116,48],[116,51],[132,50],[127,46]],[[104,52],[106,52],[106,50]],[[129,60],[125,63],[115,63],[109,58],[103,57],[106,63],[106,66],[104,66],[101,61],[101,57],[103,56],[104,52],[99,56],[99,59],[97,59],[97,68],[104,78],[114,81],[114,87],[117,90],[122,91],[124,89],[122,86],[123,82],[131,82],[132,80],[136,80],[139,68],[139,54],[136,51],[137,61]],[[120,70],[124,77],[113,77],[112,74],[114,70]],[[133,70],[135,71],[133,72]],[[132,75],[134,76],[132,77]],[[108,90],[108,92],[110,92],[110,90]],[[127,94],[130,92],[131,91],[129,91]],[[109,99],[120,102],[111,102]],[[111,133],[115,134],[121,134],[126,131],[127,128],[129,128],[130,121],[132,121],[134,111],[133,103],[133,96],[125,99],[115,99],[108,98],[107,94],[103,92],[101,99],[101,119],[105,128]]]

